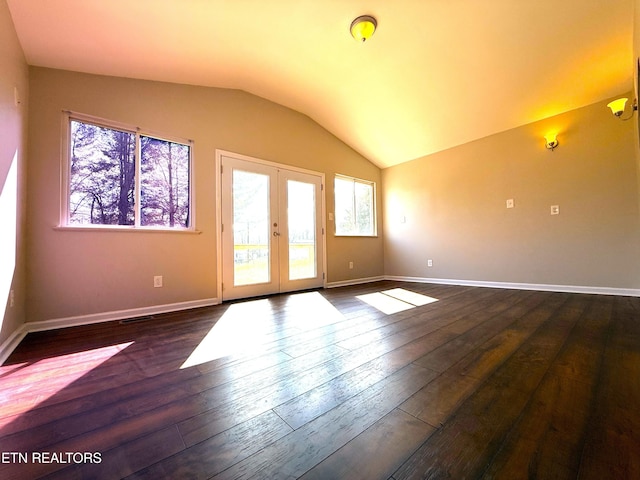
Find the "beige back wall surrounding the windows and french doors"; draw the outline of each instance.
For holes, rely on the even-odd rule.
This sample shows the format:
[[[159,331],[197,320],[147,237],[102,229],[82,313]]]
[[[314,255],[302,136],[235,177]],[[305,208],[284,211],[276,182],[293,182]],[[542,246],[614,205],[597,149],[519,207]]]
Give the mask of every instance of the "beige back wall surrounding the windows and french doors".
[[[29,321],[215,298],[215,150],[380,183],[380,170],[308,117],[242,91],[30,69]],[[193,139],[196,228],[202,233],[78,232],[60,209],[63,110]],[[335,238],[328,281],[383,274],[381,238]],[[355,267],[348,270],[348,262]],[[164,287],[153,288],[153,276]]]

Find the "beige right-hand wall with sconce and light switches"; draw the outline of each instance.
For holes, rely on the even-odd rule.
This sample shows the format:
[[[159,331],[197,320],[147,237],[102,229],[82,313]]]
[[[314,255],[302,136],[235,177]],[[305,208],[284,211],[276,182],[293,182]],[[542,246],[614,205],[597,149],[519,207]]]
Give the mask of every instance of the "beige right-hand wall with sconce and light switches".
[[[637,130],[606,103],[384,170],[385,273],[640,288]]]

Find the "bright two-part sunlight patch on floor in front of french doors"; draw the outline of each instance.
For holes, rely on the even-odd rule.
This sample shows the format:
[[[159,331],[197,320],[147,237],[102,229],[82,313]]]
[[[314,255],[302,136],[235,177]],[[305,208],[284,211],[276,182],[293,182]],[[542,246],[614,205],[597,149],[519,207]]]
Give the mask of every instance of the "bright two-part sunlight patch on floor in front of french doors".
[[[317,328],[335,323],[342,314],[318,292],[291,295],[282,319],[296,329]],[[231,355],[260,353],[273,338],[273,309],[268,299],[234,303],[211,327],[180,368],[193,367]]]

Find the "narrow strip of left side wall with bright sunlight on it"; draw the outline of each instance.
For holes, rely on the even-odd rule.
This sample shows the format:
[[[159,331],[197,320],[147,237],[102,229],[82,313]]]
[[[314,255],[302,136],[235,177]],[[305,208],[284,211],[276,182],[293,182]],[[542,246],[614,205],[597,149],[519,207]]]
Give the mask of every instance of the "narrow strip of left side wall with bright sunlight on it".
[[[20,104],[15,105],[14,87]],[[0,0],[0,344],[25,321],[28,69],[9,9]],[[14,292],[10,306],[9,292]]]

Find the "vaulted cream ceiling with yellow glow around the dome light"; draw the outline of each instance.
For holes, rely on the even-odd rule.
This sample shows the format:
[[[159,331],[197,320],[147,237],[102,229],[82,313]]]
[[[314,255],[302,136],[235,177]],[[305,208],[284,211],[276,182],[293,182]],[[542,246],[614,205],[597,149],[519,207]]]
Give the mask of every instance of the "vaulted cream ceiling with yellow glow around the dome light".
[[[242,89],[380,167],[633,85],[633,0],[7,3],[30,65]],[[365,44],[362,14],[378,20]]]

